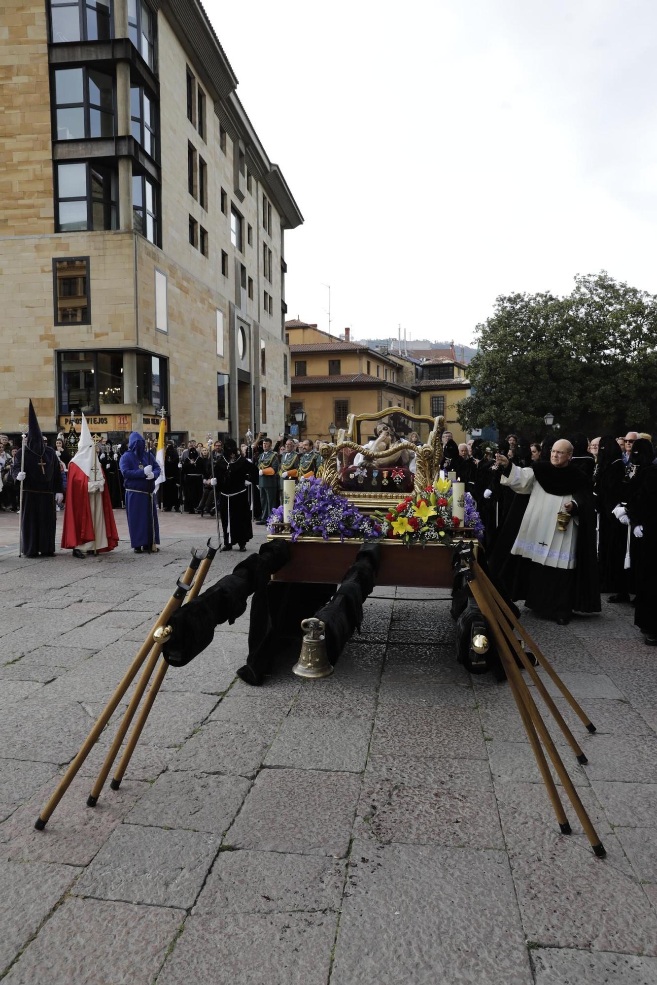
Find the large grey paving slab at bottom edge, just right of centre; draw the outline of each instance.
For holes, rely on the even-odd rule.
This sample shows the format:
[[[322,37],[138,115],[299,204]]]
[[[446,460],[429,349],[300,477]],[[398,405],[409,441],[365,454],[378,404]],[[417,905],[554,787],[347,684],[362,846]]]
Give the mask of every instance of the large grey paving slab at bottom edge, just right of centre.
[[[331,985],[531,985],[504,852],[355,841]]]

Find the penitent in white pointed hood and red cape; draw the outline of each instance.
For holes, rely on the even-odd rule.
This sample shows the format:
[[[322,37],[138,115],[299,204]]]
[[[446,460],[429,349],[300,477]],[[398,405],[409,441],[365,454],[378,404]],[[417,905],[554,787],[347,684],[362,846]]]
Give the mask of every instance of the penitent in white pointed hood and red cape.
[[[105,553],[117,544],[110,490],[83,414],[78,450],[68,466],[61,546]]]

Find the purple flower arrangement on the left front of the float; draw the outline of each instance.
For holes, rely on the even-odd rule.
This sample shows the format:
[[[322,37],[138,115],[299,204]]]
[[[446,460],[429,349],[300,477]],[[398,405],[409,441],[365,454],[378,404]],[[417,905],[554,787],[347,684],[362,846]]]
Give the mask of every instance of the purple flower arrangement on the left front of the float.
[[[267,530],[274,533],[283,522],[283,507],[272,510]],[[378,519],[364,516],[346,496],[333,493],[321,479],[302,479],[294,494],[290,516],[291,540],[299,537],[339,537],[340,541],[375,540],[383,537]]]

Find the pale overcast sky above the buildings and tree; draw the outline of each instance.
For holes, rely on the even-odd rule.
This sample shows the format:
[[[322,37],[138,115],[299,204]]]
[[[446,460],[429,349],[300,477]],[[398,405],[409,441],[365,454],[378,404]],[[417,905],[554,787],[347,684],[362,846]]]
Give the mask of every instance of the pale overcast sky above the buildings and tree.
[[[655,0],[205,0],[305,224],[288,317],[469,343],[577,273],[657,294]]]

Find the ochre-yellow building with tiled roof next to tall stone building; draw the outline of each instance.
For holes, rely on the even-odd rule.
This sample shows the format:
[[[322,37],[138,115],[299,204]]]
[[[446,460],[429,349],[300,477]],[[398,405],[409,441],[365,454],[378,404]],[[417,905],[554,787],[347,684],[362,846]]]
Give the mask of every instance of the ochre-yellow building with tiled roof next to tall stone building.
[[[415,409],[415,391],[401,382],[401,362],[351,342],[348,329],[338,340],[317,325],[293,320],[285,322],[285,333],[292,372],[288,417],[297,408],[305,411],[304,437],[328,439],[329,424],[346,427],[348,414]]]

